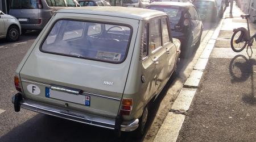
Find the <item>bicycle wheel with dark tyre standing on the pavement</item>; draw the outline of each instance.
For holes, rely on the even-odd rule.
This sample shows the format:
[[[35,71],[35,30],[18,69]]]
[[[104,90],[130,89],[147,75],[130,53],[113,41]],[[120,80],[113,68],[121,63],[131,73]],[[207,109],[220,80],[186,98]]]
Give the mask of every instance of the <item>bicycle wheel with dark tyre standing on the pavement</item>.
[[[236,31],[234,32],[234,34],[232,35],[230,44],[231,44],[231,48],[234,52],[241,52],[243,49],[245,49],[246,45],[247,45],[247,41],[245,41],[243,39],[243,36],[245,34],[243,33],[243,31]],[[236,41],[239,40],[240,42],[237,43]]]

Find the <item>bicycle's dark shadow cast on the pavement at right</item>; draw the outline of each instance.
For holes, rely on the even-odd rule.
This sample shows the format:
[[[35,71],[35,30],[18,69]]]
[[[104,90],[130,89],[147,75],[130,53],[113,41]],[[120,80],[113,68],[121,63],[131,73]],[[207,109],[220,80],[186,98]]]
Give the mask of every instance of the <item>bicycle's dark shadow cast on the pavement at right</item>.
[[[255,89],[254,89],[254,70],[256,65],[255,59],[247,59],[244,55],[237,55],[233,57],[229,64],[229,73],[232,83],[242,83],[250,78],[250,93],[243,94],[242,101],[248,105],[256,105]],[[247,89],[247,88],[243,88]]]

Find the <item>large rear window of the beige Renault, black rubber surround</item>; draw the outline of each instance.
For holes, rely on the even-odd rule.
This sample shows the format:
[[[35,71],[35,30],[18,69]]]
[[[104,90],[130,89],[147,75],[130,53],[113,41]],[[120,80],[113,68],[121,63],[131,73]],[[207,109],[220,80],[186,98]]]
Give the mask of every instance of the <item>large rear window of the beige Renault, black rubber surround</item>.
[[[119,63],[125,60],[131,28],[119,24],[59,20],[41,47],[43,52]]]

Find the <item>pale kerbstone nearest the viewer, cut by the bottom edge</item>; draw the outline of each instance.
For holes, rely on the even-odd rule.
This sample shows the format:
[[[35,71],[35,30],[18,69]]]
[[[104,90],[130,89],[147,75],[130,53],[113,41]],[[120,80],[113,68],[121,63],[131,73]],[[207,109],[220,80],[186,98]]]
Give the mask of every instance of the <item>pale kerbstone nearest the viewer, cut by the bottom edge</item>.
[[[175,142],[185,120],[185,115],[169,112],[159,129],[154,142]]]

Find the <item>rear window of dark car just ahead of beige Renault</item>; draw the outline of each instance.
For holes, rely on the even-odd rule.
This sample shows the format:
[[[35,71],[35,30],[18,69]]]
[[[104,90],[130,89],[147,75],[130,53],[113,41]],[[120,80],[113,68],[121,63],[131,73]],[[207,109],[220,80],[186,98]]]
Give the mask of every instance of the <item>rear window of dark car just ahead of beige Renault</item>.
[[[149,9],[166,12],[171,19],[171,23],[179,23],[181,19],[181,7],[179,6],[150,6]]]

